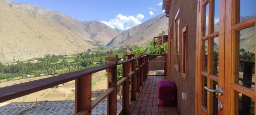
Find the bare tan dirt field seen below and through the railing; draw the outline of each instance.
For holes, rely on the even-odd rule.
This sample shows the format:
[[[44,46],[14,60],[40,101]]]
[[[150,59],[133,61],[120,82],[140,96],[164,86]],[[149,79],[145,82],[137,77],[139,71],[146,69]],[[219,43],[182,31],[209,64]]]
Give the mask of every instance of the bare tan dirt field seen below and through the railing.
[[[33,80],[48,78],[52,76],[43,76],[43,77],[35,77],[35,78],[27,78],[22,80],[8,81],[0,83],[0,87],[10,86],[14,84],[29,82]],[[92,80],[96,79],[96,84],[92,87],[92,99],[98,97],[101,93],[103,93],[107,86],[108,80],[105,78],[105,71],[101,71],[92,75]],[[75,99],[75,82],[70,81],[65,84],[58,85],[57,88],[48,88],[45,90],[38,91],[36,93],[26,95],[20,98],[16,98],[13,100],[9,100],[5,103],[12,102],[35,102],[35,101],[63,101],[63,100],[74,100]]]

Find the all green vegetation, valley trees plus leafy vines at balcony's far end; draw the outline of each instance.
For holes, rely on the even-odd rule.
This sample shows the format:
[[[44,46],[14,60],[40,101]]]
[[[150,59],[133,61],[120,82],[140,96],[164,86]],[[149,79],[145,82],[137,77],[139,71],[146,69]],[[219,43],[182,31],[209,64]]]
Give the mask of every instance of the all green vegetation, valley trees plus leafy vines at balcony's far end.
[[[85,52],[70,56],[47,54],[44,58],[34,58],[27,61],[17,60],[8,64],[0,62],[0,81],[11,81],[45,75],[61,75],[96,67],[105,64],[104,58],[107,54],[118,54],[118,57],[122,58],[123,53],[127,49],[130,49],[134,54],[162,54],[167,51],[167,43],[163,45],[156,44],[156,41],[152,41],[146,45],[145,49],[138,45],[133,47],[126,45],[126,47],[116,50],[88,49]],[[101,48],[104,49],[103,46]],[[118,80],[120,80],[122,78],[122,65],[118,65],[117,70]],[[95,83],[93,82],[93,84]]]

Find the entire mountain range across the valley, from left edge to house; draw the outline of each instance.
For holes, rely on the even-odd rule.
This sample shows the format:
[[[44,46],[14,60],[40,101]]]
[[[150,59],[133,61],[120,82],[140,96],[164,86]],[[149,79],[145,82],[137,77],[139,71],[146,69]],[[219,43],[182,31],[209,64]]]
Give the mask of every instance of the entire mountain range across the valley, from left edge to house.
[[[99,21],[79,21],[57,11],[11,0],[0,0],[0,11],[0,62],[45,54],[70,55],[97,48],[98,44],[145,44],[168,28],[164,14],[121,31]]]

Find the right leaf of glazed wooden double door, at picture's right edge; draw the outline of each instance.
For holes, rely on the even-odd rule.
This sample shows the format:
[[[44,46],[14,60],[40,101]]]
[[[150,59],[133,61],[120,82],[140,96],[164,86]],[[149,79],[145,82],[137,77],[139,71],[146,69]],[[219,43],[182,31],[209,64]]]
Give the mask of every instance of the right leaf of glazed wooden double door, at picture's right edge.
[[[225,114],[255,113],[255,0],[225,4]]]

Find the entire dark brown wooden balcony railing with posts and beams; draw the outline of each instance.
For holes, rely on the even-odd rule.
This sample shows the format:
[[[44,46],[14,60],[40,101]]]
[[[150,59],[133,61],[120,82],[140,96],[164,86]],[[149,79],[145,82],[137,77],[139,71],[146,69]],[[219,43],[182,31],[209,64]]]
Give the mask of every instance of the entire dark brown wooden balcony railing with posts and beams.
[[[107,62],[105,65],[0,88],[0,103],[75,80],[75,114],[91,114],[92,109],[105,98],[108,99],[107,114],[117,114],[117,86],[120,85],[123,93],[122,113],[129,113],[129,80],[131,80],[131,100],[136,100],[136,92],[140,91],[140,86],[143,85],[148,73],[148,56],[156,56],[156,54],[134,56],[136,58],[119,61],[117,55],[108,55],[105,58]],[[117,65],[120,64],[123,67],[123,78],[117,81]],[[108,89],[92,101],[92,74],[102,70],[108,73]]]

